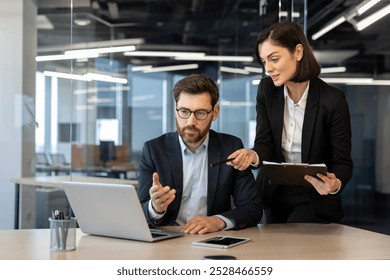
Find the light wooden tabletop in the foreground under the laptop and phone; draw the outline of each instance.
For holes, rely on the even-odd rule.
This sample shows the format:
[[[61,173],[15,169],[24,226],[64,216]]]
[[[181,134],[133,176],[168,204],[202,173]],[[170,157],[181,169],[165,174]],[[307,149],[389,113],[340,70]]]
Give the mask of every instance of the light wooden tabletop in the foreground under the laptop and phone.
[[[230,249],[191,245],[217,234],[250,237]],[[77,230],[76,250],[50,252],[49,229],[0,230],[0,259],[192,259],[228,254],[239,260],[390,259],[390,236],[338,224],[268,224],[240,231],[185,235],[157,243],[99,237]]]

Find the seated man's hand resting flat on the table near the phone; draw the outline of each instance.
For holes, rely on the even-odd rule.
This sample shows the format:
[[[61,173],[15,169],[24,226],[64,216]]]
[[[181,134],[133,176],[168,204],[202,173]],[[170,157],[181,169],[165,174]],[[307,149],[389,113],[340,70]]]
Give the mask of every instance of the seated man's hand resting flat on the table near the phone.
[[[184,233],[204,234],[216,232],[226,227],[225,222],[216,216],[197,216],[184,225]]]

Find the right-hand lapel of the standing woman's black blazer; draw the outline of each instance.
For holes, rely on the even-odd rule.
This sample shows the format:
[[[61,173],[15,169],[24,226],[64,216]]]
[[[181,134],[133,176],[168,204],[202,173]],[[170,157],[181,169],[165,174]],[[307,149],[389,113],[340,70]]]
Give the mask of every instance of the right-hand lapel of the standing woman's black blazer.
[[[310,81],[302,128],[302,162],[305,163],[308,162],[312,133],[314,131],[314,125],[317,119],[319,97],[319,80],[313,79]]]

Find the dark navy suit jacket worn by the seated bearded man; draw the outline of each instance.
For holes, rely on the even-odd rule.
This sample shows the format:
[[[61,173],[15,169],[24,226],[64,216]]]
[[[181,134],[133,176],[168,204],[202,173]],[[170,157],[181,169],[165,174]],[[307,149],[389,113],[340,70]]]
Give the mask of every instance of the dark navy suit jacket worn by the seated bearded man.
[[[174,225],[183,194],[183,162],[177,132],[166,133],[144,144],[139,163],[138,196],[150,225]],[[243,147],[242,141],[232,135],[210,130],[208,162],[226,159]],[[154,224],[149,218],[149,189],[152,174],[157,172],[163,186],[176,189],[176,198],[168,206],[164,217]],[[262,217],[258,188],[250,169],[238,171],[221,164],[208,166],[207,215],[221,214],[235,222],[235,229],[257,225]]]

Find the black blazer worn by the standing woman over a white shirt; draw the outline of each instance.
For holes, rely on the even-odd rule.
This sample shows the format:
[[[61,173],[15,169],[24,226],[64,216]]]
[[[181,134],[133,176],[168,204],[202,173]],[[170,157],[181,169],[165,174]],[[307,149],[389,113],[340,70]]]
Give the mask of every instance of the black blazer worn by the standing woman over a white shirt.
[[[256,138],[254,150],[260,160],[284,162],[282,130],[284,87],[276,87],[270,77],[261,80],[256,98]],[[320,195],[308,187],[307,195],[316,216],[327,222],[343,217],[341,193],[352,176],[351,121],[344,93],[319,78],[310,80],[302,129],[302,162],[325,163],[342,183],[336,195]],[[260,167],[257,176],[262,207],[268,208],[276,185],[270,185]]]

